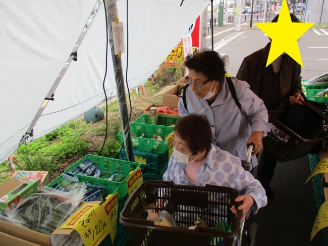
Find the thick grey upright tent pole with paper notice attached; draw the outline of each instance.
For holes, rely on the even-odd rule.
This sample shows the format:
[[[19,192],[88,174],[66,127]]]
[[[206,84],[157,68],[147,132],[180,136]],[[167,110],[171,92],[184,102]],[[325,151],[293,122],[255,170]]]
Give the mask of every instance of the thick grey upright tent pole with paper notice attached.
[[[118,10],[117,10],[116,2],[117,1],[113,1],[113,0],[104,0],[104,4],[106,7],[107,31],[108,31],[108,38],[109,38],[108,42],[111,45],[114,73],[116,79],[116,88],[117,88],[117,99],[119,102],[119,111],[120,111],[121,122],[123,127],[125,151],[128,160],[134,162],[132,138],[130,132],[130,119],[129,119],[129,112],[128,112],[127,100],[125,95],[125,87],[124,87],[122,59],[120,56],[115,55],[115,50],[114,50],[112,22],[115,22],[115,18],[118,18]]]

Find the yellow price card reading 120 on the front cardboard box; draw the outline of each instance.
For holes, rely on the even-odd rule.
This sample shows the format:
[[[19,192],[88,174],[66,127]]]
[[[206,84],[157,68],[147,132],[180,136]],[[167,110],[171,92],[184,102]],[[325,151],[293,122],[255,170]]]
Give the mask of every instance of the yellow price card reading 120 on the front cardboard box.
[[[96,246],[110,233],[110,222],[105,211],[98,204],[86,204],[61,228],[76,230],[85,246]]]

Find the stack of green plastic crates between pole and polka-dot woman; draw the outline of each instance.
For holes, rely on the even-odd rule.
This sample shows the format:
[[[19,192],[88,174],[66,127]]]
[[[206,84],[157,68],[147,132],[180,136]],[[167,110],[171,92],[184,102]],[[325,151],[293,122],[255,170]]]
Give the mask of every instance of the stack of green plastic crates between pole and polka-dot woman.
[[[179,120],[177,117],[157,116],[157,125],[151,124],[150,115],[142,115],[130,125],[132,146],[135,162],[139,162],[143,180],[162,180],[170,160],[169,142],[167,139],[154,140],[153,134],[162,139],[173,132],[173,125]],[[144,134],[143,137],[140,137]],[[123,143],[123,132],[118,134]],[[120,152],[120,159],[127,160],[124,149]]]

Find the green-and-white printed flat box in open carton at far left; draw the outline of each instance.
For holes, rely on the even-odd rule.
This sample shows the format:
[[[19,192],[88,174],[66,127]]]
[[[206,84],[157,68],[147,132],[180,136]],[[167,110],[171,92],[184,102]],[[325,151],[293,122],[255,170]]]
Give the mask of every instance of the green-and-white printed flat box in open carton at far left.
[[[18,185],[15,185],[16,181]],[[22,199],[30,194],[41,191],[42,187],[40,179],[28,180],[25,183],[21,183],[17,179],[10,178],[4,185],[6,187],[13,187],[11,185],[15,185],[15,188],[7,193],[0,192],[0,211],[2,212],[15,208]]]

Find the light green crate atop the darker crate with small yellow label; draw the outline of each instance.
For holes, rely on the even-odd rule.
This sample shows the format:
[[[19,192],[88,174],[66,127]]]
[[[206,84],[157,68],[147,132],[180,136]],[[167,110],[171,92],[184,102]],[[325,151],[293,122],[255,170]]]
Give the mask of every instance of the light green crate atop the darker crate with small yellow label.
[[[136,125],[135,123],[132,123],[130,125],[131,134],[136,134],[136,136],[131,136],[133,149],[137,151],[145,151],[159,154],[166,153],[169,149],[168,139],[155,140],[152,139],[153,134],[156,133],[158,136],[164,139],[165,135],[169,135],[173,132],[173,127],[150,124],[144,125],[147,126]],[[142,133],[145,134],[144,137],[140,137]],[[122,144],[124,142],[123,131],[121,131],[118,136]]]

